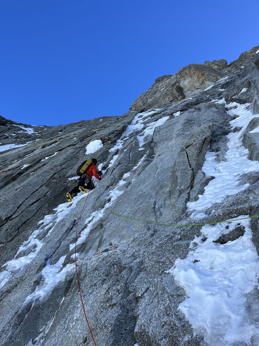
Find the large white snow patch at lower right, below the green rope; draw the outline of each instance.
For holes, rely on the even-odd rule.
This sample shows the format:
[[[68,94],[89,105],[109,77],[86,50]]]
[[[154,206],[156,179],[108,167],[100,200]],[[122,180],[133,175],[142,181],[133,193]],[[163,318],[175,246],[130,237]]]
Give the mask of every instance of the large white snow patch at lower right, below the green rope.
[[[213,243],[240,224],[245,228],[243,236],[223,245]],[[168,271],[188,297],[179,309],[194,332],[205,335],[209,345],[250,345],[252,336],[259,337],[246,308],[246,294],[257,286],[259,276],[259,257],[251,240],[250,219],[206,225],[201,233],[190,244],[187,258],[178,258]]]

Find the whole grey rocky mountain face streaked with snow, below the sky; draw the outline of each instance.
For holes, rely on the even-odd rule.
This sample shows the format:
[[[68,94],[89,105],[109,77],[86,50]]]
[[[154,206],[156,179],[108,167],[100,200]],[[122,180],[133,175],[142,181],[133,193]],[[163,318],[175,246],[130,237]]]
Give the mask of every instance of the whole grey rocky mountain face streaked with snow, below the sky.
[[[98,346],[258,345],[258,89],[259,46],[158,78],[122,116],[1,117],[0,345],[93,345],[76,229]],[[68,203],[92,157],[103,179]]]

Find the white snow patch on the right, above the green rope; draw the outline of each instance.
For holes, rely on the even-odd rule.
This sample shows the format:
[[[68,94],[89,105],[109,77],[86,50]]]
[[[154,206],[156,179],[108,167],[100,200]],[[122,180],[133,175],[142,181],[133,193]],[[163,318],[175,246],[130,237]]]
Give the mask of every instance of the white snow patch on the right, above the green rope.
[[[219,101],[221,102],[221,101]],[[231,132],[227,135],[229,139],[228,151],[225,154],[227,161],[217,162],[217,153],[207,151],[202,171],[206,177],[214,176],[204,188],[204,193],[199,195],[195,202],[187,203],[187,211],[192,212],[192,218],[198,220],[206,216],[205,210],[214,203],[222,202],[228,195],[236,194],[246,189],[249,184],[240,184],[239,178],[242,174],[259,171],[258,161],[248,159],[248,150],[242,145],[242,136],[246,131],[249,121],[259,115],[254,115],[249,109],[250,104],[238,104],[232,102],[226,108],[236,106],[237,108],[228,110],[230,116],[239,115],[238,118],[231,120],[232,129],[236,126],[242,129],[236,133]]]

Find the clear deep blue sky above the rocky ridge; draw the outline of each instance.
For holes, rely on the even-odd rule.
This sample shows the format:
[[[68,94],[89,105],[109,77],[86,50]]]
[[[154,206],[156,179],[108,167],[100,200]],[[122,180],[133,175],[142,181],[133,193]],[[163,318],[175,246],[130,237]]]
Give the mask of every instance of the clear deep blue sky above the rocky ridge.
[[[117,116],[154,80],[259,45],[259,0],[1,0],[0,115]]]

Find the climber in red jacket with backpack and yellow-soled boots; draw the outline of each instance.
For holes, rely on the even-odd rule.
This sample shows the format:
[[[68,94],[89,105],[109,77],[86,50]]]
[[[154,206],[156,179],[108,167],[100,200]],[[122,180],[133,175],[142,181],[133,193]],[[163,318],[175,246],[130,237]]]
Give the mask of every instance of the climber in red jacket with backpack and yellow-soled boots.
[[[92,158],[92,160],[84,161],[80,164],[77,169],[77,174],[80,175],[78,179],[77,185],[70,192],[66,194],[68,202],[72,201],[71,195],[73,193],[78,193],[79,190],[83,193],[86,193],[86,189],[93,190],[95,188],[94,183],[92,181],[92,177],[95,176],[96,179],[101,180],[102,171],[96,171],[96,158]],[[99,175],[98,175],[99,174]]]

